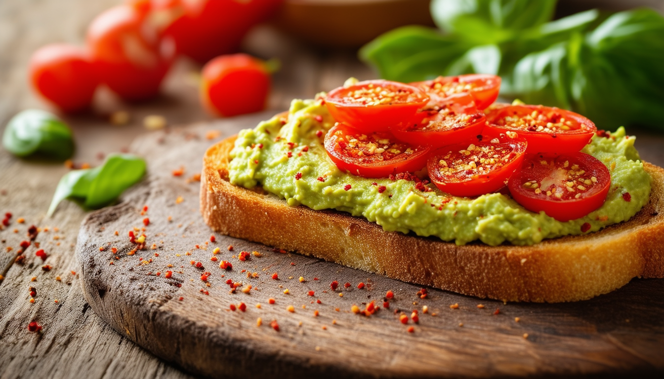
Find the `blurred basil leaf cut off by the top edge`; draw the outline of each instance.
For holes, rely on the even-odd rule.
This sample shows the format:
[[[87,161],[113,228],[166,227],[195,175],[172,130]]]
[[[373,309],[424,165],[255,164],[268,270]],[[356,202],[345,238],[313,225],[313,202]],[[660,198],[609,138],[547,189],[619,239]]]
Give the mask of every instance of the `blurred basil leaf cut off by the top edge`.
[[[537,27],[553,17],[556,0],[433,0],[436,25],[479,44],[514,38],[516,32]]]

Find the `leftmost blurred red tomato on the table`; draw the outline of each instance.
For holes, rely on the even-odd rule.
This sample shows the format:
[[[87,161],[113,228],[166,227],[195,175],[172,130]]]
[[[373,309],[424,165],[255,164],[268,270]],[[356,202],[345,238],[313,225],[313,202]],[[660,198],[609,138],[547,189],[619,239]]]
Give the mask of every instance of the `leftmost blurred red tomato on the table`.
[[[88,55],[68,44],[35,51],[28,71],[33,88],[64,112],[88,108],[99,85]]]

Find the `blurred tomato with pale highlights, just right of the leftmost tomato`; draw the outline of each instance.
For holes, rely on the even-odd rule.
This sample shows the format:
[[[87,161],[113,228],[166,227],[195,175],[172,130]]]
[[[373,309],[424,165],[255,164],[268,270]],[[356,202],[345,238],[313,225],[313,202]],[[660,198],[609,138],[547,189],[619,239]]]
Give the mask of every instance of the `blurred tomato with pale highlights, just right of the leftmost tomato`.
[[[125,100],[146,100],[159,92],[175,58],[175,45],[161,38],[150,13],[136,4],[99,15],[88,28],[88,47],[96,72]]]

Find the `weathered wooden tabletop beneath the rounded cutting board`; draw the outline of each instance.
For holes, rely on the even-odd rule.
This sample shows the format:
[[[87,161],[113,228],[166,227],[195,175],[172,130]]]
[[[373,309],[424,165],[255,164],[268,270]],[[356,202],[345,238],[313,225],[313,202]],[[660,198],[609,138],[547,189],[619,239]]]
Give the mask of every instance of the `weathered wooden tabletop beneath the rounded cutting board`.
[[[82,44],[86,25],[92,18],[119,2],[0,1],[0,129],[20,110],[47,108],[27,86],[27,61],[31,52],[50,42]],[[662,4],[664,2],[659,1],[659,9],[664,9]],[[348,76],[361,79],[372,77],[371,72],[355,60],[353,52],[307,50],[297,42],[267,29],[256,31],[248,38],[244,48],[264,58],[277,56],[282,60],[282,70],[274,78],[274,92],[270,99],[270,109],[275,112],[286,109],[291,98],[312,96],[317,91],[333,88]],[[127,105],[114,100],[108,93],[102,93],[96,101],[96,112],[67,117],[78,142],[74,161],[96,165],[100,163],[99,153],[128,147],[135,136],[145,131],[141,126],[145,115],[165,115],[171,125],[210,119],[199,107],[195,80],[191,76],[193,70],[197,67],[180,62],[165,83],[163,96],[152,102]],[[106,115],[120,109],[129,111],[130,123],[122,127],[110,125]],[[637,135],[637,147],[643,158],[664,165],[664,152],[661,150],[664,138],[640,132]],[[11,226],[0,231],[0,240],[3,240],[0,243],[0,275],[5,277],[0,281],[0,378],[190,377],[116,333],[90,311],[80,285],[80,266],[74,256],[80,221],[86,213],[65,202],[53,218],[44,218],[58,179],[65,172],[62,165],[15,159],[0,149],[0,212],[14,214]],[[17,218],[21,217],[25,218],[25,223],[17,224]],[[36,241],[49,254],[44,263],[53,266],[51,271],[42,271],[44,263],[34,256],[34,246],[27,250],[24,265],[9,265],[15,258],[16,250],[6,252],[6,248],[11,246],[16,249],[19,242],[26,239],[25,233],[31,224],[50,228],[49,232],[41,232]],[[58,232],[54,232],[54,227],[59,228]],[[13,232],[15,229],[16,233]],[[62,281],[56,281],[57,276]],[[31,281],[32,277],[37,277],[36,281]],[[658,323],[645,316],[649,314],[651,303],[653,307],[661,305],[657,299],[653,301],[649,298],[649,293],[661,293],[661,287],[653,283],[657,281],[635,281],[620,290],[627,291],[625,297],[629,297],[631,303],[642,306],[643,312],[632,308],[624,314],[620,313],[622,311],[607,311],[612,309],[611,301],[602,300],[603,297],[580,303],[578,308],[570,308],[568,312],[570,317],[576,317],[575,320],[583,319],[590,331],[593,328],[602,332],[613,331],[614,335],[618,335],[615,343],[623,347],[625,355],[641,354],[645,349],[633,346],[627,338],[629,333],[625,335],[623,327],[639,329],[643,335],[660,330],[657,327],[661,326],[661,320]],[[37,288],[34,304],[29,303],[28,289],[31,286]],[[463,311],[464,305],[459,304]],[[474,306],[475,302],[473,300],[468,304]],[[620,304],[614,305],[614,308],[619,309]],[[283,311],[282,307],[279,309]],[[531,310],[527,309],[529,312]],[[546,313],[546,310],[541,312]],[[609,327],[616,319],[622,318],[629,318],[629,325],[618,329]],[[44,325],[39,335],[26,329],[33,320]],[[567,320],[565,317],[563,322]],[[448,321],[453,329],[455,322],[462,320]],[[657,345],[654,337],[649,341],[647,346],[650,348],[646,350],[643,362],[651,361],[653,356],[661,358],[661,345]],[[491,342],[487,341],[487,344]],[[487,356],[489,360],[491,356]],[[339,365],[343,364],[339,362]]]

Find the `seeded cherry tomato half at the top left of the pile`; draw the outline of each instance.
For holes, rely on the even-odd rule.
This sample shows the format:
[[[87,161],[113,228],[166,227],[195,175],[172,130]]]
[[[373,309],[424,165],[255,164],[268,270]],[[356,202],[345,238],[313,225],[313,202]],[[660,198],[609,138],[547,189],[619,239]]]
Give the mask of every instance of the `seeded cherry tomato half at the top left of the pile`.
[[[429,101],[422,90],[388,80],[367,80],[331,90],[325,105],[335,120],[361,131],[386,131],[408,121]]]

